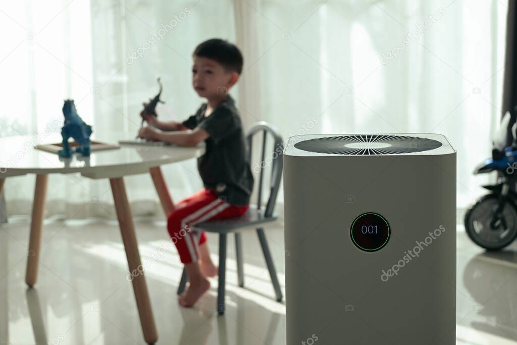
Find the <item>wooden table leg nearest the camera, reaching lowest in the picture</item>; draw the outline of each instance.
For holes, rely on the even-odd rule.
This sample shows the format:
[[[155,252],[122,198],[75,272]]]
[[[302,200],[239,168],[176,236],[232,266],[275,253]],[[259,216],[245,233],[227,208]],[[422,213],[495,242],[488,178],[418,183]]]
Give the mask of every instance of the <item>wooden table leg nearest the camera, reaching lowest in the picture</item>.
[[[122,241],[124,242],[124,248],[126,249],[129,272],[132,277],[134,297],[140,315],[144,339],[147,343],[152,344],[158,340],[158,334],[156,332],[153,309],[151,309],[149,293],[147,292],[145,283],[143,266],[140,261],[140,253],[138,251],[138,243],[136,242],[126,187],[124,186],[122,177],[110,178],[110,184],[113,200],[115,201],[115,209],[117,211],[118,225],[120,227]]]

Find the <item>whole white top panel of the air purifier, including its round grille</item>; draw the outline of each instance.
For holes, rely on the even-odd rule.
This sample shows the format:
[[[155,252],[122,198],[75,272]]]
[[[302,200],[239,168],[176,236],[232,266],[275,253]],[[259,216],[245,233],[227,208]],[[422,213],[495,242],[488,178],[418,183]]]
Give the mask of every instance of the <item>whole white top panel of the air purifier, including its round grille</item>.
[[[294,143],[293,143],[294,141]],[[439,134],[344,134],[334,136],[296,136],[284,154],[379,156],[400,154],[453,153],[447,139]],[[294,148],[293,148],[294,147]],[[441,149],[440,149],[441,148]],[[300,152],[300,150],[302,152]],[[304,153],[305,152],[305,153]]]

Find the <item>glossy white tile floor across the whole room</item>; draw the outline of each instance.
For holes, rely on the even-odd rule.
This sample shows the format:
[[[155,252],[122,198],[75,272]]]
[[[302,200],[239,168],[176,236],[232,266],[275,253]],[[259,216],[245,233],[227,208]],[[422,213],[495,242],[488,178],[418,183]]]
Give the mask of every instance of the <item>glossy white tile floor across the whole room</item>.
[[[141,219],[136,229],[159,343],[285,344],[285,306],[273,300],[254,232],[243,236],[245,289],[237,287],[229,242],[227,311],[218,317],[215,280],[195,308],[178,307],[180,264],[164,222]],[[283,288],[281,224],[267,236]],[[39,278],[30,290],[27,238],[28,219],[0,228],[1,345],[144,343],[115,221],[45,221]],[[217,239],[210,237],[210,244],[217,253]],[[457,265],[457,344],[517,344],[517,245],[486,254],[459,232]]]

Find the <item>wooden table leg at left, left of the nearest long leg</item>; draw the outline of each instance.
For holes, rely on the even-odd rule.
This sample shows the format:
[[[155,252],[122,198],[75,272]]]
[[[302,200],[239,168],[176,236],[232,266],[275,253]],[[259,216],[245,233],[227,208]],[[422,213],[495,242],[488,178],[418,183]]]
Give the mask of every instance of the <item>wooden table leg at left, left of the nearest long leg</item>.
[[[49,176],[46,174],[36,175],[36,187],[34,188],[31,235],[29,236],[27,270],[25,272],[25,282],[31,288],[38,279],[41,228],[43,227],[43,214],[45,213],[45,197],[47,195],[48,177]]]

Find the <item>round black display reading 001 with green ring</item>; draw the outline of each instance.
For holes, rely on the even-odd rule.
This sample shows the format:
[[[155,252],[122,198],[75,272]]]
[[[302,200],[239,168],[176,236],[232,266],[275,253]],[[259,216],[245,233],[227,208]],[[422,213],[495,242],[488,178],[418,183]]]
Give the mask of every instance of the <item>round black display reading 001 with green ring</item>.
[[[350,227],[352,242],[364,251],[382,249],[388,243],[390,233],[386,218],[374,212],[357,216]]]

